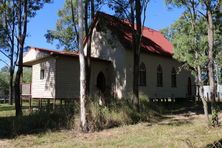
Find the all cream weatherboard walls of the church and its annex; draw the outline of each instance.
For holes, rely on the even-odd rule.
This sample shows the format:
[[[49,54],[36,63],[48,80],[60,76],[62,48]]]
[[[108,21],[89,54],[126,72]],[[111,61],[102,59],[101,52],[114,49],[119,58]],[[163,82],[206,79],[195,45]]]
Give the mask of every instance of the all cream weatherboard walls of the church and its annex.
[[[117,98],[130,97],[133,84],[132,51],[124,49],[116,36],[108,29],[106,29],[106,32],[97,32],[96,28],[94,28],[92,39],[92,56],[109,60],[111,63],[95,60],[92,62],[91,95],[93,96],[97,93],[97,75],[102,71],[107,80],[107,91],[110,90]],[[33,56],[32,54],[31,56]],[[57,58],[41,62],[42,63],[33,65],[32,97],[79,97],[78,58],[58,56]],[[146,87],[140,87],[140,94],[151,98],[166,98],[172,96],[176,98],[186,97],[187,79],[188,77],[192,77],[190,72],[182,70],[178,73],[177,87],[171,88],[171,70],[172,67],[180,67],[181,64],[179,62],[172,58],[144,53],[141,54],[141,62],[144,62],[146,65],[147,85]],[[156,69],[159,64],[163,69],[163,87],[161,88],[156,87]],[[40,80],[40,67],[42,66],[47,70],[47,80]]]

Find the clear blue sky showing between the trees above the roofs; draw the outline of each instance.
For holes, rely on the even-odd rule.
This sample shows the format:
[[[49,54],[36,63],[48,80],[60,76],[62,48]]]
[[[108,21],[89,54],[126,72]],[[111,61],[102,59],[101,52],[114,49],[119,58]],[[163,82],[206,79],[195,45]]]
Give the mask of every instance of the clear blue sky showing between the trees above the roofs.
[[[26,39],[26,46],[35,46],[49,49],[56,49],[55,44],[49,44],[46,42],[44,35],[47,30],[53,30],[56,26],[57,12],[63,7],[65,0],[54,0],[52,4],[46,4],[43,9],[37,12],[37,15],[32,18],[28,24],[28,37]],[[110,13],[106,7],[102,9],[106,13]],[[168,27],[174,21],[176,21],[181,13],[182,9],[174,8],[168,9],[164,0],[151,0],[146,12],[145,26],[160,30]],[[0,54],[1,59],[5,59]],[[4,66],[0,62],[0,67]]]

